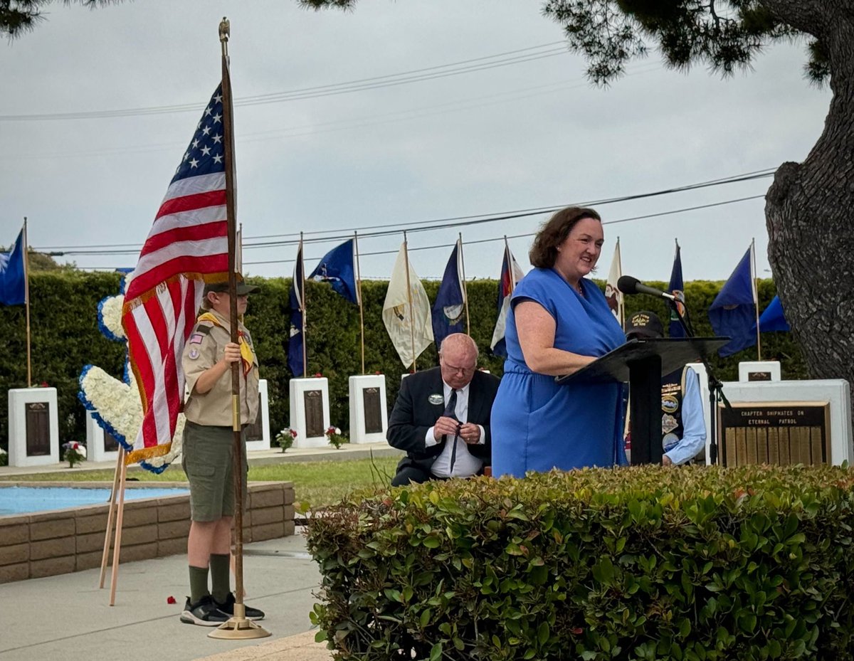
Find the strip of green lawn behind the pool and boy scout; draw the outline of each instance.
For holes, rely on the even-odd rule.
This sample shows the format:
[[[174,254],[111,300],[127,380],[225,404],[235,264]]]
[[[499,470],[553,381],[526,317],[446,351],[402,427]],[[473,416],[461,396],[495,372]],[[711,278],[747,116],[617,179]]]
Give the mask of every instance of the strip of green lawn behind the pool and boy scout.
[[[249,467],[250,482],[292,482],[297,504],[307,502],[313,509],[330,505],[352,491],[361,488],[383,487],[391,483],[395,474],[396,457],[373,459],[346,459],[341,461],[290,461],[275,465]],[[84,464],[85,466],[85,464]],[[186,482],[180,465],[155,475],[149,471],[132,469],[129,479],[140,482]],[[68,469],[51,473],[3,476],[0,480],[15,482],[110,482],[114,471],[84,471]]]

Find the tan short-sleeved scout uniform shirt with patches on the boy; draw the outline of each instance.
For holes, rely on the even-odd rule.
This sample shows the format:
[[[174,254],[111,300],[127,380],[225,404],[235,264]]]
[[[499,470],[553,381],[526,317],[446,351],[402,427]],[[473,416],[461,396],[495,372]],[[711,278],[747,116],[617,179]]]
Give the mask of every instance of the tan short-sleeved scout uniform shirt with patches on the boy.
[[[184,345],[181,354],[181,366],[187,379],[187,401],[184,402],[184,415],[190,422],[219,427],[231,427],[231,368],[225,370],[213,388],[207,393],[194,393],[196,380],[203,371],[213,367],[223,357],[225,345],[231,342],[231,330],[228,319],[214,310],[206,315],[216,319],[201,320],[196,323],[190,339]],[[253,424],[258,417],[258,359],[252,346],[249,330],[237,322],[237,330],[248,345],[244,355],[251,354],[252,360],[242,360],[240,368],[240,424]]]

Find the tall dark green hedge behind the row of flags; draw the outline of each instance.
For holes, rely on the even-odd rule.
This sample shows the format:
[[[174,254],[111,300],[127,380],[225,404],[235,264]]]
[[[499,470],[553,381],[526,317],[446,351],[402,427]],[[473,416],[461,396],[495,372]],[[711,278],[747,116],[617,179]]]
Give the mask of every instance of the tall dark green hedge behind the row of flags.
[[[252,331],[270,394],[272,436],[288,424],[287,366],[290,307],[290,278],[249,278],[260,291],[250,297],[246,325]],[[664,283],[650,283],[666,289]],[[693,313],[693,324],[700,336],[713,332],[705,311],[722,283],[694,281],[686,284],[686,303]],[[331,423],[342,430],[349,427],[348,377],[359,374],[359,309],[336,295],[325,283],[308,282],[307,338],[308,373],[320,372],[329,378]],[[489,342],[496,319],[494,280],[474,280],[468,285],[471,336],[481,348],[481,366],[500,376],[503,359],[489,353]],[[600,283],[604,287],[604,284]],[[30,276],[30,325],[32,335],[32,383],[47,383],[57,389],[60,442],[85,441],[85,409],[77,399],[78,377],[86,364],[102,367],[121,378],[125,345],[111,342],[97,327],[97,305],[105,296],[118,295],[120,274],[62,270],[33,272]],[[401,360],[389,340],[382,319],[387,282],[362,283],[365,316],[365,372],[387,375],[389,412],[394,405],[404,371]],[[437,281],[424,282],[430,301],[439,289]],[[774,284],[758,284],[759,307],[764,309],[775,295]],[[626,316],[649,309],[664,320],[668,311],[664,301],[651,296],[627,296]],[[0,353],[0,388],[3,391],[26,387],[26,317],[23,306],[0,307],[0,334],[7,350]],[[789,333],[765,333],[763,358],[781,360],[783,378],[808,377],[804,360]],[[756,360],[756,348],[745,349],[728,359],[711,360],[722,380],[738,377],[740,360]],[[418,369],[437,365],[436,348],[428,348],[418,358]],[[8,449],[8,403],[0,418],[0,447]]]

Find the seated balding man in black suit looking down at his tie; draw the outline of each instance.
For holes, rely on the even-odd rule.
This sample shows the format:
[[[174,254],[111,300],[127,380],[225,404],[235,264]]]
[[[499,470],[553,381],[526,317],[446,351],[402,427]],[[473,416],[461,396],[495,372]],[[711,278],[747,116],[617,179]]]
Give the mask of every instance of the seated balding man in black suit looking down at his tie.
[[[491,462],[489,414],[499,379],[477,371],[477,344],[442,341],[439,366],[403,379],[389,418],[389,445],[406,450],[392,486],[483,473]]]

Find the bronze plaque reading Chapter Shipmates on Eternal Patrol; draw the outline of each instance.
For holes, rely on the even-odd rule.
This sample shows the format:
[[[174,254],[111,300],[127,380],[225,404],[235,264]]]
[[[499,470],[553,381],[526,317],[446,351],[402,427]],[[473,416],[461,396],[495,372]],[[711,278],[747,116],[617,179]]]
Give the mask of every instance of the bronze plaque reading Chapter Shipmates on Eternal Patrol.
[[[827,401],[737,402],[717,413],[721,464],[816,465],[830,462]]]

